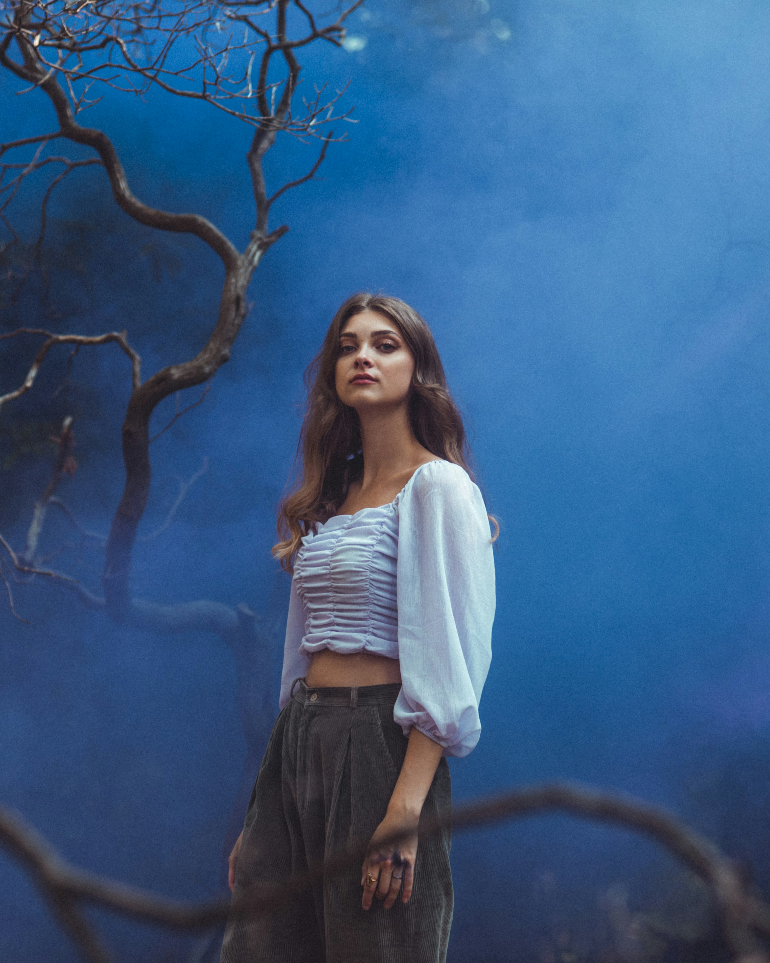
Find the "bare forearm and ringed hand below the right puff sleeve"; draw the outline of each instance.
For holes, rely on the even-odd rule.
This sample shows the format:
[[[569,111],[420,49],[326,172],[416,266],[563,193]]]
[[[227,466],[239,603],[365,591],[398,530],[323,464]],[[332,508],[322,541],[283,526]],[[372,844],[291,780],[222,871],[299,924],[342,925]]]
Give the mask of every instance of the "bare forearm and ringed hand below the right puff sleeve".
[[[384,899],[385,909],[390,909],[398,898],[399,889],[401,902],[409,901],[417,858],[417,827],[425,796],[443,752],[443,746],[428,739],[419,729],[412,729],[409,733],[409,744],[396,789],[388,804],[385,819],[374,831],[364,865],[361,867],[361,885],[364,887],[361,905],[364,909],[371,908],[374,896]],[[406,838],[396,844],[386,843],[380,846],[380,840],[385,841],[389,836],[404,830],[409,832]]]

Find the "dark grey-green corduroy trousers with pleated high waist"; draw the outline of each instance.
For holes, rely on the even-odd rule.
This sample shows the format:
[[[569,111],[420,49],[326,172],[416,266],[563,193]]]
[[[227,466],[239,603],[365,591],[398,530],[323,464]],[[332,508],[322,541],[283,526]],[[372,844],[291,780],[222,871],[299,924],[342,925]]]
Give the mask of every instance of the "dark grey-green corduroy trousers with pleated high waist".
[[[385,817],[407,740],[393,720],[398,685],[308,689],[278,716],[244,822],[232,906],[351,844]],[[269,915],[233,917],[221,963],[444,963],[452,914],[451,789],[442,759],[422,819],[448,827],[420,840],[412,898],[361,908],[355,867],[317,880]]]

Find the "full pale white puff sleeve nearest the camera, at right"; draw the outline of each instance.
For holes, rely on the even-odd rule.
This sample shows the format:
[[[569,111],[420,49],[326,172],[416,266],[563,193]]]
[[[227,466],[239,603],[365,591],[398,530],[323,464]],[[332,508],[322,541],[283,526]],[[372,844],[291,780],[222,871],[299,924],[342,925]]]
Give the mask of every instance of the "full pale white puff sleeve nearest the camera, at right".
[[[398,502],[398,659],[394,718],[467,756],[492,657],[495,562],[481,492],[459,465],[433,461]]]

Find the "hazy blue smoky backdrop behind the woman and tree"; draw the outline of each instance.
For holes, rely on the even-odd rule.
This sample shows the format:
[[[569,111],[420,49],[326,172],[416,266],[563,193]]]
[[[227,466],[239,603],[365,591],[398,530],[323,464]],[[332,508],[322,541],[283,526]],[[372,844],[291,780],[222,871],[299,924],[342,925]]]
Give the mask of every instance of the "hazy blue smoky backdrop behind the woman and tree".
[[[231,362],[153,445],[145,531],[169,479],[211,468],[137,551],[137,594],[282,617],[288,580],[269,547],[302,370],[351,291],[396,294],[433,327],[501,519],[484,733],[452,765],[456,798],[562,777],[623,789],[753,864],[767,892],[770,10],[372,0],[350,34],[348,51],[308,49],[303,64],[307,84],[351,81],[359,123],[320,182],[276,205],[292,230],[255,275]],[[2,139],[48,129],[44,99],[2,83]],[[202,213],[243,247],[245,129],[158,95],[90,113],[142,199]],[[285,143],[269,175],[309,163]],[[57,329],[126,327],[147,374],[197,350],[218,299],[212,254],[116,213],[98,169],[75,173],[53,214]],[[44,321],[22,303],[7,325]],[[3,390],[24,346],[23,359],[21,343],[3,349]],[[63,412],[64,364],[52,355],[35,398],[4,412],[8,452],[14,418]],[[128,387],[114,348],[77,357],[80,464],[63,495],[101,531]],[[2,525],[20,546],[50,455],[10,460]],[[65,535],[55,522],[50,547]],[[93,586],[95,559],[72,562]],[[16,596],[32,624],[0,607],[0,799],[80,866],[169,896],[220,892],[245,751],[231,653],[117,628],[57,589]],[[453,865],[454,963],[593,958],[623,943],[617,920],[665,905],[705,931],[697,888],[621,832],[531,820],[458,836]],[[73,959],[5,859],[0,887],[4,959]],[[121,960],[192,951],[94,919]]]

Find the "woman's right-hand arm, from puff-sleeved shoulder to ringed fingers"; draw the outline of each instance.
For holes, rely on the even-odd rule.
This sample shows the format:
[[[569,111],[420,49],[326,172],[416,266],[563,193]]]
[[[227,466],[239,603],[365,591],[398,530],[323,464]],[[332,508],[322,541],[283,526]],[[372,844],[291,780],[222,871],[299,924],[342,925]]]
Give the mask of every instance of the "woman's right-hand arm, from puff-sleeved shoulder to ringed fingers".
[[[365,909],[375,894],[392,906],[401,884],[402,901],[409,899],[418,821],[439,760],[468,755],[481,731],[495,563],[481,493],[459,465],[425,464],[399,498],[397,594],[401,691],[394,720],[409,743],[362,868]],[[410,831],[406,841],[379,845],[403,829]]]

